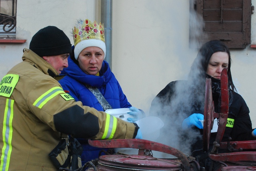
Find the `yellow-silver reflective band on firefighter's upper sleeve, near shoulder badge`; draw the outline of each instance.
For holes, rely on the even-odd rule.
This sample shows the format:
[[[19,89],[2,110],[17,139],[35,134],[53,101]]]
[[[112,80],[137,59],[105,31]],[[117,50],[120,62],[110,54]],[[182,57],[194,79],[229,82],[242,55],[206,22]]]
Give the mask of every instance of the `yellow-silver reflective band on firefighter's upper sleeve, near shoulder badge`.
[[[65,92],[60,87],[54,87],[42,94],[37,100],[35,100],[33,105],[41,109],[49,100],[51,100],[53,97],[60,93]]]

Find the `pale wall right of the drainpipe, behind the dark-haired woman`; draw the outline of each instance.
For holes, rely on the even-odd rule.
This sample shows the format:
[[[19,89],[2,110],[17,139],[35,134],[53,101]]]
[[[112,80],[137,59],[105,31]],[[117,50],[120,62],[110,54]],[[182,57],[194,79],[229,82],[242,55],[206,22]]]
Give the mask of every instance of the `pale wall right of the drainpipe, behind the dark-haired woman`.
[[[252,0],[255,6],[256,1]],[[252,15],[252,44],[256,44]],[[197,50],[189,49],[189,1],[113,0],[112,71],[130,103],[148,112],[169,82],[186,79]],[[256,49],[231,50],[232,77],[256,127]]]

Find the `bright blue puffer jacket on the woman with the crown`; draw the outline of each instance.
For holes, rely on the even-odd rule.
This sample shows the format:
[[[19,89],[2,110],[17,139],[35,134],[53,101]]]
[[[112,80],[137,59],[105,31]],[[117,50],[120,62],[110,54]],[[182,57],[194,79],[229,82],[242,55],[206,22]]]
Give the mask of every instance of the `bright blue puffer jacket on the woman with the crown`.
[[[64,68],[62,74],[66,76],[59,81],[63,90],[76,100],[81,101],[84,106],[89,106],[103,111],[102,106],[98,102],[93,93],[84,85],[89,84],[92,87],[97,87],[113,109],[129,108],[131,104],[128,102],[125,94],[122,91],[117,79],[111,72],[109,64],[103,61],[100,70],[100,76],[87,75],[74,61],[68,59],[69,66]],[[92,147],[87,143],[87,140],[78,139],[83,146],[82,165],[87,161],[98,158],[99,151],[102,149]]]

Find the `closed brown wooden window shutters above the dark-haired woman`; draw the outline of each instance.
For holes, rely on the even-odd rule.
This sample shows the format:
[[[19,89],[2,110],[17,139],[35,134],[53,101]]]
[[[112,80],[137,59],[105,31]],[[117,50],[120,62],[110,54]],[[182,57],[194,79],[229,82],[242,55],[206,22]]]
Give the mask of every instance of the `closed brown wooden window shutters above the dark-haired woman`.
[[[190,43],[221,40],[229,48],[251,44],[251,0],[190,0],[190,13],[197,18],[195,29],[190,16]]]

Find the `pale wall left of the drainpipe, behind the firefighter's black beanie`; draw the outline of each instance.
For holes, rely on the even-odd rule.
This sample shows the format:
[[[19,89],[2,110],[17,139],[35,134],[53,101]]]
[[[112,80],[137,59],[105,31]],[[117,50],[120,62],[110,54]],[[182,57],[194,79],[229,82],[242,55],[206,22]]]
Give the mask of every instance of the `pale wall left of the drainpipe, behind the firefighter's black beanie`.
[[[53,3],[54,2],[54,3]],[[29,48],[32,36],[41,28],[56,26],[72,38],[72,28],[77,19],[99,17],[99,0],[17,0],[16,39],[24,44],[0,44],[0,77],[12,66],[22,61],[23,48]]]

